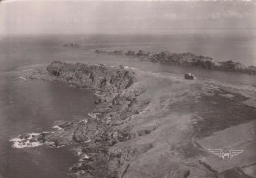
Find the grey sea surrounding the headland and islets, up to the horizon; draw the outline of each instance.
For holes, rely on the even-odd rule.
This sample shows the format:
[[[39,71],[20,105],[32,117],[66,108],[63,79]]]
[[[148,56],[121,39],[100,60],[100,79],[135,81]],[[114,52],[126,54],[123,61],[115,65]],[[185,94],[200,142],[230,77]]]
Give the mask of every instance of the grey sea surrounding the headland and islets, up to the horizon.
[[[166,66],[136,58],[93,53],[97,48],[145,49],[153,52],[194,52],[217,59],[233,59],[255,64],[255,42],[248,35],[213,36],[212,34],[168,36],[48,36],[0,40],[0,177],[65,178],[67,169],[77,161],[69,147],[17,149],[9,140],[19,134],[51,130],[57,120],[86,117],[94,108],[90,91],[61,83],[27,80],[13,71],[30,69],[53,60],[127,65],[145,71],[193,72],[197,77],[256,86],[255,76]],[[81,48],[64,48],[77,42]],[[241,60],[242,58],[242,60]]]

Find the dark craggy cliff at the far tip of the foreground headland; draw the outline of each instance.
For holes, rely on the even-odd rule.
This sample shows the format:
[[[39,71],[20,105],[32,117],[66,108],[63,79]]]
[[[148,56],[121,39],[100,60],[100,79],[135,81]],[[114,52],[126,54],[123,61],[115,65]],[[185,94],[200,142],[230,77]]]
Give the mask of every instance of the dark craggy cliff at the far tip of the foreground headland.
[[[58,80],[82,88],[97,90],[99,94],[106,95],[108,99],[129,88],[134,80],[132,71],[120,67],[109,67],[104,65],[69,64],[54,61],[47,67],[47,71],[58,77]]]

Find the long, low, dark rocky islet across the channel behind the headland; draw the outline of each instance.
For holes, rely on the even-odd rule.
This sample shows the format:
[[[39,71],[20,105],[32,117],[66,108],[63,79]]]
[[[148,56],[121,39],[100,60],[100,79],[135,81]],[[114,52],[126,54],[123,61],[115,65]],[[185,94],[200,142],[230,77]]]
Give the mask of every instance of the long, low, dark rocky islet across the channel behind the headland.
[[[169,65],[200,67],[204,69],[240,72],[251,75],[256,74],[256,66],[245,66],[240,62],[234,62],[232,60],[218,62],[211,57],[195,55],[193,53],[170,53],[168,51],[163,51],[160,53],[151,53],[144,50],[95,50],[95,52],[112,55],[124,55],[129,57],[138,57],[142,60],[159,62]]]

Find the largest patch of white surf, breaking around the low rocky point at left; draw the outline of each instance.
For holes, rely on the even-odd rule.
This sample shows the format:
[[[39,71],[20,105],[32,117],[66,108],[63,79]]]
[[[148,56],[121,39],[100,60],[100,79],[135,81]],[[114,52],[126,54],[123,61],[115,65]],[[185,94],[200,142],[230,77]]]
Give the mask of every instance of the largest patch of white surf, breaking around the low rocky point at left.
[[[29,133],[28,135],[29,135],[28,138],[21,138],[21,135],[19,135],[18,137],[11,139],[10,141],[13,142],[12,147],[13,148],[33,148],[33,147],[41,146],[43,144],[41,142],[38,142],[37,140],[30,141],[35,136],[38,136],[39,133]]]

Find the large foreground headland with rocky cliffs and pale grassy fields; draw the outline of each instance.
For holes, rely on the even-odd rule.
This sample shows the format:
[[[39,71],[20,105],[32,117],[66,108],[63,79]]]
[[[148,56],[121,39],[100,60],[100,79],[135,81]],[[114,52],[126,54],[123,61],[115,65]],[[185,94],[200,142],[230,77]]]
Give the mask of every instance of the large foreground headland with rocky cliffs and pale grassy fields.
[[[203,79],[188,81],[179,75],[126,66],[61,61],[36,69],[26,78],[57,80],[95,91],[98,99],[90,117],[59,123],[56,131],[22,134],[12,140],[14,147],[21,148],[74,145],[79,158],[70,171],[77,177],[256,175],[253,87]],[[242,153],[220,157],[210,149]]]

